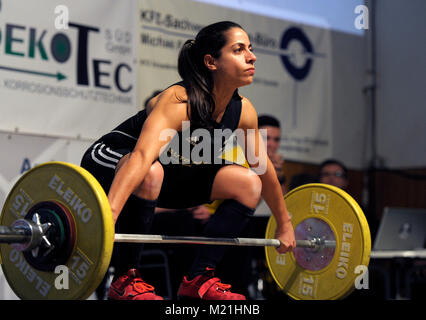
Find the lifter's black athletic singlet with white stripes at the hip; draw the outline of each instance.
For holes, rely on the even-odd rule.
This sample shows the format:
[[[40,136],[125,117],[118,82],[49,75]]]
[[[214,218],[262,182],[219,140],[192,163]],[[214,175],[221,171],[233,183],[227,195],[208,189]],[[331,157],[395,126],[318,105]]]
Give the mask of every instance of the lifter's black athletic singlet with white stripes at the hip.
[[[177,85],[183,86],[182,82]],[[209,131],[211,148],[208,150],[209,157],[204,153],[206,149],[200,148],[200,143],[204,147],[207,145],[203,140],[206,139],[206,130],[197,131],[197,128],[191,127],[189,131],[177,132],[163,154],[159,156],[164,169],[164,180],[158,207],[178,209],[210,202],[214,177],[221,167],[229,164],[218,161],[217,156],[223,148],[226,137],[237,129],[241,109],[241,97],[236,91],[221,121],[215,124],[215,130]],[[105,192],[108,192],[111,186],[117,163],[135,147],[146,118],[146,111],[139,111],[97,140],[83,156],[81,166],[97,178]],[[220,141],[218,139],[215,141],[215,137]],[[188,149],[183,150],[183,144]],[[194,148],[196,153],[193,152]],[[198,152],[200,150],[201,152]],[[194,154],[197,157],[191,156]]]

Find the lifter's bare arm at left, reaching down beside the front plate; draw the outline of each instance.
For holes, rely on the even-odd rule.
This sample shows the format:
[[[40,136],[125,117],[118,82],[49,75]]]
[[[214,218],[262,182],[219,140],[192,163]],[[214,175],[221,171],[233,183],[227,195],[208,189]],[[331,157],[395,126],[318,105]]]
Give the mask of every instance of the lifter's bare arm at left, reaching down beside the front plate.
[[[158,158],[161,148],[170,142],[171,138],[168,141],[160,140],[161,132],[167,129],[179,131],[182,121],[187,120],[186,103],[176,98],[185,94],[184,90],[180,86],[173,86],[164,91],[145,120],[133,152],[116,173],[108,193],[114,222],[129,196],[142,183]]]

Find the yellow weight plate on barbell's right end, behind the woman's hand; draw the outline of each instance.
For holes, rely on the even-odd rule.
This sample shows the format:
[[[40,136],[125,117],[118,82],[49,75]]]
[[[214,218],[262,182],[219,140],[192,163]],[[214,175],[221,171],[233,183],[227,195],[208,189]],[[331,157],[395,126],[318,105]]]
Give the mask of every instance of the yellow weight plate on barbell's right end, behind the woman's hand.
[[[355,268],[368,266],[370,260],[370,228],[360,206],[343,190],[319,183],[292,190],[285,202],[296,239],[324,236],[335,240],[336,248],[296,248],[280,255],[275,248],[266,247],[272,277],[293,299],[344,298],[355,287]],[[275,238],[275,230],[276,221],[271,216],[266,238]]]

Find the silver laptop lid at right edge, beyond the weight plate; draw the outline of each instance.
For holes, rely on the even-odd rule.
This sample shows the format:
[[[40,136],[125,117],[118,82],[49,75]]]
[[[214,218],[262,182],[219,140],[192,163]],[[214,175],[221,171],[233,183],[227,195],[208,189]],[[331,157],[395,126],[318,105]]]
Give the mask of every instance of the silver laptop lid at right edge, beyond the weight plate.
[[[423,249],[426,240],[426,209],[386,207],[373,250]]]

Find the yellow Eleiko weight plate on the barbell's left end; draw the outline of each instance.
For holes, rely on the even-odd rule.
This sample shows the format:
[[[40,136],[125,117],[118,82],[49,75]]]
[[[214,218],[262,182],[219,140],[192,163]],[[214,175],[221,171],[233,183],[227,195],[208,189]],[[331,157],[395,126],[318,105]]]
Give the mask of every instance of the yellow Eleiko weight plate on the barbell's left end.
[[[86,299],[103,279],[111,259],[114,224],[107,196],[85,169],[48,162],[26,172],[14,185],[2,209],[0,224],[12,225],[43,201],[61,204],[74,220],[75,244],[66,268],[58,273],[41,271],[22,252],[1,245],[4,275],[21,299]]]

